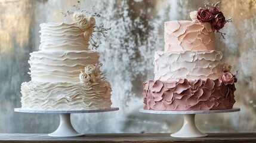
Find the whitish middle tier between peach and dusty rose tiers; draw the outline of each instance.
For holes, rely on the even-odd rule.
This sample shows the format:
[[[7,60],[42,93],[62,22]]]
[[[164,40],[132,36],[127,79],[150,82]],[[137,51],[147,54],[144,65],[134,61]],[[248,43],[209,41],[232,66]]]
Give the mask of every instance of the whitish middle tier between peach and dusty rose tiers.
[[[155,80],[218,79],[223,73],[220,51],[157,51]]]

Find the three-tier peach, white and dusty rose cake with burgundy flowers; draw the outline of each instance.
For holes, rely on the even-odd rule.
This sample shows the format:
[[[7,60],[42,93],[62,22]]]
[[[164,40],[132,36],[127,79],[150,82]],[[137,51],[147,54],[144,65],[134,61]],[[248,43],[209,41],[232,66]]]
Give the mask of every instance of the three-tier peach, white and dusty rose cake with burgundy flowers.
[[[215,51],[215,32],[229,20],[214,6],[190,17],[164,24],[165,51],[155,53],[155,80],[143,83],[145,110],[224,110],[235,103],[236,76]]]

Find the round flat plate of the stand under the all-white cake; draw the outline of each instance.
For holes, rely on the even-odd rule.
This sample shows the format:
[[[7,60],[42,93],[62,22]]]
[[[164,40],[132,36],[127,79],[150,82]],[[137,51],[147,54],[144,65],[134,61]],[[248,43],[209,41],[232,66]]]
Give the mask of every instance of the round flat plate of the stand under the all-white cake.
[[[70,113],[98,113],[107,111],[117,111],[118,107],[106,109],[87,109],[87,110],[29,110],[23,108],[14,108],[14,111],[21,113],[48,113],[48,114],[70,114]]]

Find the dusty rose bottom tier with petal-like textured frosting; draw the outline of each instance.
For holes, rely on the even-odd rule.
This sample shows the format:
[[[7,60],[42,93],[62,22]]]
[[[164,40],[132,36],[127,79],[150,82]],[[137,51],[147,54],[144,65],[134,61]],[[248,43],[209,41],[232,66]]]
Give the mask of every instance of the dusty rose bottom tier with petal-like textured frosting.
[[[145,110],[224,110],[233,108],[235,83],[221,80],[149,80],[143,83]]]

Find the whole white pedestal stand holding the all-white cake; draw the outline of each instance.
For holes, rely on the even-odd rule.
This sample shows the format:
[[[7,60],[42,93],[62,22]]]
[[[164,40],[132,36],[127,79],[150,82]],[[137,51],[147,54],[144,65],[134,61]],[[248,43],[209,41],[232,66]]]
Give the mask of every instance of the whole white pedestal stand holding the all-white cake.
[[[14,111],[21,113],[48,113],[48,114],[60,114],[60,125],[58,129],[53,133],[49,133],[49,136],[55,137],[75,137],[75,136],[84,136],[84,133],[76,132],[73,128],[70,121],[71,113],[99,113],[107,111],[117,111],[119,108],[107,108],[107,109],[90,109],[90,110],[26,110],[23,108],[14,108]]]

